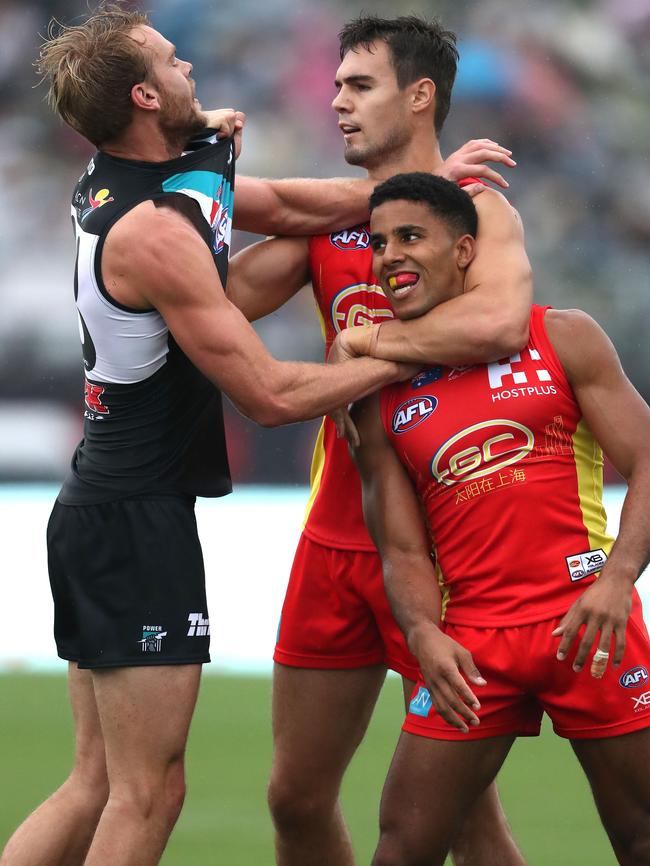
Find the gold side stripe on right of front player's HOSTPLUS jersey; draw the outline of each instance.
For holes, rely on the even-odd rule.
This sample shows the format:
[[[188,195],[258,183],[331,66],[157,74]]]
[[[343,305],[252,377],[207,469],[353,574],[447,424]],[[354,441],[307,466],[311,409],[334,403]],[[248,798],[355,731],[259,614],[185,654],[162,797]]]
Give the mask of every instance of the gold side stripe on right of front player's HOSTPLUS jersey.
[[[602,548],[609,554],[614,539],[607,534],[607,514],[603,506],[603,452],[584,419],[580,420],[573,434],[573,454],[589,549]]]

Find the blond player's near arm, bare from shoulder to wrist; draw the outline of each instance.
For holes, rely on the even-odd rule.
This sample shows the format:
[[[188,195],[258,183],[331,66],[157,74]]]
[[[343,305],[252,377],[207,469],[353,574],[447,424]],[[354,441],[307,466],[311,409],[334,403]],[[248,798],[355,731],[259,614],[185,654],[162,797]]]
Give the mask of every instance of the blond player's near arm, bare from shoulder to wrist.
[[[210,251],[185,217],[143,202],[109,231],[102,273],[128,306],[155,307],[191,361],[260,424],[315,418],[395,381],[399,365],[277,361],[226,298]]]

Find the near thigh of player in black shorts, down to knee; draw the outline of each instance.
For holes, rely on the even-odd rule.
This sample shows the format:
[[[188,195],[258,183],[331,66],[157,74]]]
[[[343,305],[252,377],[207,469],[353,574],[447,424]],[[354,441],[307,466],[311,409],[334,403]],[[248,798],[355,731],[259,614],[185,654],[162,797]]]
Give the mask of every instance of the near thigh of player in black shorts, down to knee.
[[[201,665],[92,671],[111,780],[164,772],[184,753]]]

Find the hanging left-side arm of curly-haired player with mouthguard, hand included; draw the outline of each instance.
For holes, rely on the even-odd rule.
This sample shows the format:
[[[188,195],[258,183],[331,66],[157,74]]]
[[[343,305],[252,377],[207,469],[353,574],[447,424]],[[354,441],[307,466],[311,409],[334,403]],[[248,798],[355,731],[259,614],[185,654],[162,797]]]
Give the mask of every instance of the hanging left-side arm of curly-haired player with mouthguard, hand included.
[[[420,665],[437,712],[462,731],[477,725],[480,708],[461,671],[483,685],[471,653],[445,635],[441,597],[422,512],[404,466],[393,450],[373,394],[354,408],[361,445],[352,456],[363,486],[363,513],[379,550],[391,607]]]

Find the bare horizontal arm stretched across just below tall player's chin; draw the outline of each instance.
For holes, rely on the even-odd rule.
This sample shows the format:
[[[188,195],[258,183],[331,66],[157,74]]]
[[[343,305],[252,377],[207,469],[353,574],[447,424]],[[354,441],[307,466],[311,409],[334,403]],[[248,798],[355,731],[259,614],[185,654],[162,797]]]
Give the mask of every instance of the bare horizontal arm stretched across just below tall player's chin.
[[[350,178],[238,177],[233,225],[264,235],[315,235],[365,222],[374,184]]]

